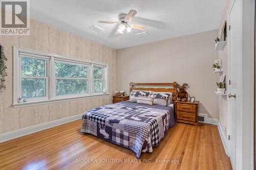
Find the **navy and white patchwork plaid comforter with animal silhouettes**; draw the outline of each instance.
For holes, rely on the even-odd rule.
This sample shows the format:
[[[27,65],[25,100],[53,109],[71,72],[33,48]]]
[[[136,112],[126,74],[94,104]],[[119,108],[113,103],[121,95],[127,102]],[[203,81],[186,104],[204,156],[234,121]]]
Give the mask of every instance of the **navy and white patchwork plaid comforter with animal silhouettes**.
[[[169,127],[174,126],[173,113],[166,107],[154,108],[120,102],[86,111],[82,133],[90,133],[135,152],[153,152]]]

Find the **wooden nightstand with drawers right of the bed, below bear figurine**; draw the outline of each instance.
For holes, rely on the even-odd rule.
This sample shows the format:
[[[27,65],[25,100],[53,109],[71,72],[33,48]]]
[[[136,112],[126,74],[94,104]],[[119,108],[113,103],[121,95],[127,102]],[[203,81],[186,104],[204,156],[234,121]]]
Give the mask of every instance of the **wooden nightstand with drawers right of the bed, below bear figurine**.
[[[198,105],[199,101],[195,102],[178,102],[175,101],[176,122],[197,125],[198,120]]]

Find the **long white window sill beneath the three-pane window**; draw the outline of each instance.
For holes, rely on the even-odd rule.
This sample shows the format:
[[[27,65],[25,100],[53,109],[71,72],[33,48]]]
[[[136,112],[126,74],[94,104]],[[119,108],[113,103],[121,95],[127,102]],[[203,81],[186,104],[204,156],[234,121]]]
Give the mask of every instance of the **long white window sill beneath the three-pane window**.
[[[90,96],[79,96],[79,97],[68,98],[68,99],[65,98],[65,99],[52,99],[52,100],[46,100],[46,101],[15,103],[15,104],[12,104],[12,106],[13,106],[13,108],[18,108],[18,107],[42,105],[42,104],[48,104],[48,103],[74,101],[74,100],[86,99],[86,98],[95,98],[96,96],[105,96],[105,95],[109,95],[109,93],[106,93],[106,94],[94,94],[94,95],[90,95]]]

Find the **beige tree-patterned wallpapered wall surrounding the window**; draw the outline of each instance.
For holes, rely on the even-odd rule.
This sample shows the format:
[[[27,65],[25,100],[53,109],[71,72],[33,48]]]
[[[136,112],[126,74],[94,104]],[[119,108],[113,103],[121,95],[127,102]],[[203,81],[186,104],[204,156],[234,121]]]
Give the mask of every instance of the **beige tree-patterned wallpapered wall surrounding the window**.
[[[52,120],[81,114],[84,111],[110,104],[116,84],[116,51],[65,31],[31,20],[30,36],[0,36],[8,58],[7,89],[0,94],[0,133],[9,132]],[[12,46],[60,54],[109,64],[109,96],[13,108]]]

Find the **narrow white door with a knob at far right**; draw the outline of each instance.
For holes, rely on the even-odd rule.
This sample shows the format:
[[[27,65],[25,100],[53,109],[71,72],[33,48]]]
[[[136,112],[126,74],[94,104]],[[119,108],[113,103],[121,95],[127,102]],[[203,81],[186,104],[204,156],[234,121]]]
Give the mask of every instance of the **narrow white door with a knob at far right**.
[[[236,169],[236,135],[238,111],[240,109],[239,100],[239,81],[241,81],[241,17],[240,0],[235,0],[231,6],[229,19],[229,56],[228,56],[228,109],[229,109],[229,128],[228,128],[228,156],[233,169]]]

